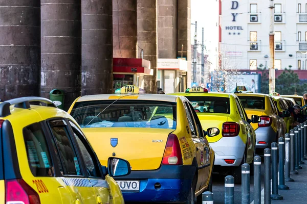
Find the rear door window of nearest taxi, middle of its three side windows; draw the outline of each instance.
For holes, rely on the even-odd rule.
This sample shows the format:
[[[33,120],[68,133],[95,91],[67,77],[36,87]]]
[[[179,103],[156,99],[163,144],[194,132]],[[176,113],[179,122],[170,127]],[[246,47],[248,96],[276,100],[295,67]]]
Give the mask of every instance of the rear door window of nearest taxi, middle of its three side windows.
[[[79,161],[73,148],[65,121],[54,120],[50,121],[49,124],[59,150],[59,156],[63,166],[63,175],[81,175]]]

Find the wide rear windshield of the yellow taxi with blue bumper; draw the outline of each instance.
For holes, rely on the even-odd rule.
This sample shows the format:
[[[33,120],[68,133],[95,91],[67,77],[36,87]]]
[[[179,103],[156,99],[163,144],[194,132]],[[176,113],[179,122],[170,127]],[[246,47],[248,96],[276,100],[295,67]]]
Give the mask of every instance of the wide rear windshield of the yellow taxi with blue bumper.
[[[95,100],[76,103],[71,115],[83,127],[176,129],[176,103],[148,100]]]

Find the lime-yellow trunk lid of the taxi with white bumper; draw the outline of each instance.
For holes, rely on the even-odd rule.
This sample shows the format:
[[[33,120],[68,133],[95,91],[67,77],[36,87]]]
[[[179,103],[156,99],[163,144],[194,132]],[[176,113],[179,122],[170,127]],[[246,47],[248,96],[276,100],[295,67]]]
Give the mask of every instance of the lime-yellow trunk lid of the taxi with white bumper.
[[[222,127],[223,123],[228,121],[229,114],[222,114],[222,113],[214,113],[214,114],[197,114],[204,131],[207,131],[210,127],[217,127],[220,130],[220,134],[214,137],[206,137],[208,142],[217,142],[220,140],[222,136]]]

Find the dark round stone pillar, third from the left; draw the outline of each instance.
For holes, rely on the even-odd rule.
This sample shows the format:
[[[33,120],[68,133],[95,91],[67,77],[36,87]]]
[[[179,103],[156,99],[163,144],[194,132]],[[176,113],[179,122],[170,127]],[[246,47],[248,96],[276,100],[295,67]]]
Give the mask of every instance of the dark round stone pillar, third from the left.
[[[113,22],[110,0],[81,0],[82,95],[111,93]]]

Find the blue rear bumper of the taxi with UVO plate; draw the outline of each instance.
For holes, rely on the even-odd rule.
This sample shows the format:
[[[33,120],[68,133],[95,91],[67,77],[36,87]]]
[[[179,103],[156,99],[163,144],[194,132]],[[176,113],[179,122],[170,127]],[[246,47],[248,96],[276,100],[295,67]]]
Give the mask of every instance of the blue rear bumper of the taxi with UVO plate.
[[[196,167],[161,165],[157,170],[131,171],[115,180],[140,181],[139,192],[122,191],[125,202],[185,202]]]

